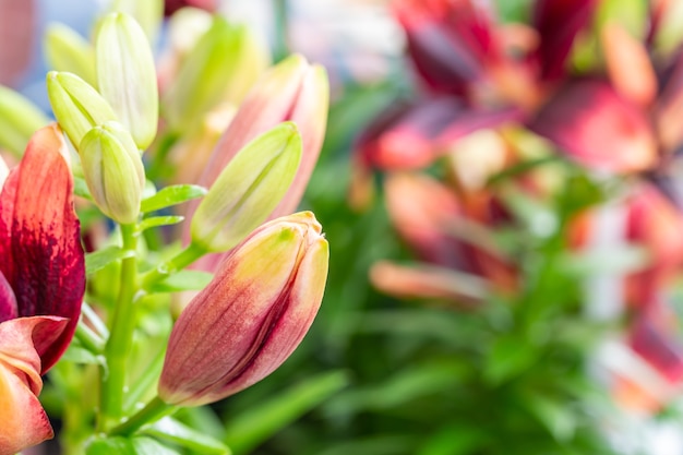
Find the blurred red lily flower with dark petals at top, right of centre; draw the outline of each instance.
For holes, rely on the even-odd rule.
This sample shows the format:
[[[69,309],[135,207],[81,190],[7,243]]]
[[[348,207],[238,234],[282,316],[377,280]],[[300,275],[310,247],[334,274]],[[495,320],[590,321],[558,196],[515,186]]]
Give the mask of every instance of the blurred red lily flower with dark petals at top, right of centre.
[[[424,167],[475,130],[523,121],[566,74],[574,39],[596,3],[539,0],[532,28],[496,24],[488,2],[396,2],[409,56],[429,95],[390,107],[371,124],[357,144],[359,164]]]

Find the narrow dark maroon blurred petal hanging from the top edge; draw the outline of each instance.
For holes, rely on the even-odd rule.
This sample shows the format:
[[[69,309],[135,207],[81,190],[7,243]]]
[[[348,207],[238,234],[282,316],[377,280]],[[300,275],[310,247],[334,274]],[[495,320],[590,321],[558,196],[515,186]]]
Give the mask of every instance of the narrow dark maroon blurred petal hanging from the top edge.
[[[540,35],[538,60],[541,76],[556,80],[564,75],[576,35],[588,25],[597,0],[538,0],[534,25]]]

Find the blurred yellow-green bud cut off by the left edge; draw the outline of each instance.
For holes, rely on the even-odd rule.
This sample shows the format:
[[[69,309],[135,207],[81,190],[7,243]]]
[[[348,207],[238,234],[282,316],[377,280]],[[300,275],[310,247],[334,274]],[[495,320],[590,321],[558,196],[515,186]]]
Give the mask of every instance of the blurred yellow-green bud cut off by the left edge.
[[[0,85],[0,148],[22,156],[33,133],[48,123],[33,103]]]

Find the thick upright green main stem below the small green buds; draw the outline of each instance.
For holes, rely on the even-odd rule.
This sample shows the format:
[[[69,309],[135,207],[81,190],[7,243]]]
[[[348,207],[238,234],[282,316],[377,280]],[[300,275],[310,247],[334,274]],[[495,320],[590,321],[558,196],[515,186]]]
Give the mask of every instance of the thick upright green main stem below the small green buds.
[[[135,226],[121,225],[121,237],[123,238],[123,249],[135,251],[137,243]],[[133,331],[135,330],[133,299],[137,291],[136,277],[137,258],[132,255],[122,260],[119,298],[113,309],[111,335],[105,346],[107,363],[101,374],[98,420],[100,431],[118,423],[122,417],[127,360],[131,351]]]

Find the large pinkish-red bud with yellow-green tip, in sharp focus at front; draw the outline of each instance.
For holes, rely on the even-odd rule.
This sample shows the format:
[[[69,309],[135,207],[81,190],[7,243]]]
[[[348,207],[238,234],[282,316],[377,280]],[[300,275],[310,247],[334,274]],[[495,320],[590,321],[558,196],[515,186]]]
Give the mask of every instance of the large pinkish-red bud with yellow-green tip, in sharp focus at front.
[[[310,212],[269,221],[226,258],[180,314],[159,397],[180,406],[223,399],[261,381],[296,349],[320,308],[328,246]]]

